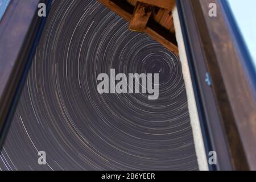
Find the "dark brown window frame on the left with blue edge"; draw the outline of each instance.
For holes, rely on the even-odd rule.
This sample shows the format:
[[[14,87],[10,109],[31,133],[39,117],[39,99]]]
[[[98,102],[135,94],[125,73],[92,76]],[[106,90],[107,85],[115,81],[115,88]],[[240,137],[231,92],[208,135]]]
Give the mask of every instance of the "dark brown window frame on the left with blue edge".
[[[48,11],[51,0],[12,0],[0,22],[0,40],[4,40],[0,44],[0,150],[46,22],[47,17],[38,16],[38,4],[41,2],[46,3]],[[23,12],[22,15],[20,11]],[[16,39],[10,34],[13,31]]]

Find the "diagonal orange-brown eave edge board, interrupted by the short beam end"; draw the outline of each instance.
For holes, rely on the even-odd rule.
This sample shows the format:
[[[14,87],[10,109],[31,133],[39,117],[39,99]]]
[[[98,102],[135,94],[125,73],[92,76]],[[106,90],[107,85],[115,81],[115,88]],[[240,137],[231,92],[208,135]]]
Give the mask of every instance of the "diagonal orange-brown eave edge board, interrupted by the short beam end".
[[[116,14],[130,22],[132,18],[132,14],[128,13],[127,11],[123,10],[120,6],[117,6],[115,3],[109,0],[98,0],[100,3],[108,7],[110,10],[114,11]],[[118,0],[119,1],[119,0]],[[121,2],[121,1],[120,1]],[[164,47],[169,49],[171,52],[174,52],[176,55],[179,55],[179,51],[177,46],[168,41],[166,38],[164,38],[162,35],[160,35],[158,32],[152,30],[152,28],[146,27],[144,29],[144,32],[148,35],[151,36],[152,39],[158,41],[160,44],[162,44]]]

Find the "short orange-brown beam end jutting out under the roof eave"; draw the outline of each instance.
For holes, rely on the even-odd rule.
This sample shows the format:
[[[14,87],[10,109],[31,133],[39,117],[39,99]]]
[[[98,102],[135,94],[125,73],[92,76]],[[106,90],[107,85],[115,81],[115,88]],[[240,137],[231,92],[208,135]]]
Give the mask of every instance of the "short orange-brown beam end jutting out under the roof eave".
[[[129,29],[131,31],[142,32],[146,28],[148,19],[150,18],[152,11],[151,6],[146,3],[137,2],[133,18],[131,18]]]

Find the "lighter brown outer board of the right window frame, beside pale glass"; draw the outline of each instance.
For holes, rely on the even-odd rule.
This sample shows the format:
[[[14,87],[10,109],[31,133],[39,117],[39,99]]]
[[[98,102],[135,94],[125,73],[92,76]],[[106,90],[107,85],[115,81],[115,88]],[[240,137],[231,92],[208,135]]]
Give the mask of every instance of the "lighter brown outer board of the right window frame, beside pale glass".
[[[238,133],[241,137],[246,161],[251,170],[256,170],[256,98],[254,86],[244,64],[247,60],[240,54],[240,48],[232,38],[231,29],[216,0],[199,0],[205,23],[209,31],[216,60],[220,65],[227,97],[229,99]],[[216,3],[218,16],[210,18],[207,7]],[[233,146],[236,150],[236,146]]]

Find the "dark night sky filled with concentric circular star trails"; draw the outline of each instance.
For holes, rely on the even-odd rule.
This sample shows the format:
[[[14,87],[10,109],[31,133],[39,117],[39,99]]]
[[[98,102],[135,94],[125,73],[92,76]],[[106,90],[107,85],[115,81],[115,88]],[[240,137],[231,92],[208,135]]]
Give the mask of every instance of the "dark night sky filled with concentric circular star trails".
[[[193,170],[178,57],[96,1],[53,1],[2,170]],[[97,76],[159,73],[159,98],[99,94]],[[46,152],[46,165],[38,164]]]

